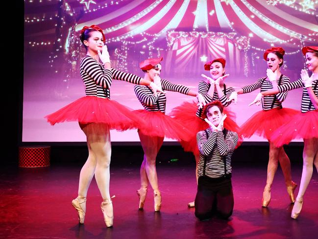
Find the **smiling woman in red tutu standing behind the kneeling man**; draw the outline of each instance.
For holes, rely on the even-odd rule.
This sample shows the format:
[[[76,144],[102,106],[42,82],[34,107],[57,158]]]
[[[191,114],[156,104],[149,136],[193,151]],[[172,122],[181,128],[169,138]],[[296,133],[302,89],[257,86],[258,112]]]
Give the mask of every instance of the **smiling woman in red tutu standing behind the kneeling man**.
[[[224,113],[227,118],[224,121],[224,127],[233,132],[239,132],[239,126],[235,123],[235,113],[231,112],[226,106],[229,106],[232,101],[229,101],[229,96],[235,90],[233,87],[226,87],[224,80],[229,75],[225,75],[225,59],[217,58],[207,62],[204,65],[204,70],[210,71],[211,77],[207,77],[204,74],[201,76],[205,80],[201,80],[198,84],[198,92],[203,96],[206,103],[210,103],[215,100],[219,100],[224,106]],[[212,92],[209,95],[208,92]],[[199,150],[196,143],[196,133],[205,130],[209,125],[202,119],[202,108],[198,108],[196,102],[184,102],[181,106],[177,106],[172,109],[171,116],[182,122],[189,131],[191,131],[191,137],[189,141],[181,141],[181,145],[185,151],[193,152],[196,159],[196,182],[198,180],[197,169],[199,161]],[[242,143],[242,137],[239,137],[240,145]],[[195,202],[188,203],[188,207],[194,207]]]

